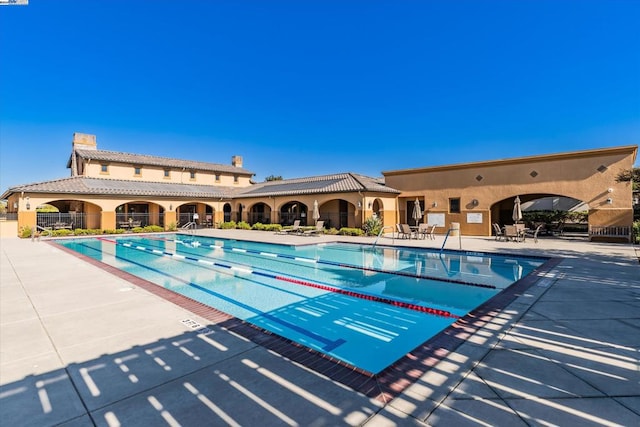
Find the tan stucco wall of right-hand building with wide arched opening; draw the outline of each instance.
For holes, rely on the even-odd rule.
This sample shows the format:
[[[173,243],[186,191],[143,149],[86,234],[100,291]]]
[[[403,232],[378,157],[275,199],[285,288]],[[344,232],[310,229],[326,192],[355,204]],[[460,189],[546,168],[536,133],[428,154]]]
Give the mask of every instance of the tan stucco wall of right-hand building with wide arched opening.
[[[616,176],[633,167],[636,153],[637,147],[628,146],[383,174],[386,185],[402,191],[399,218],[403,222],[411,215],[406,211],[406,200],[417,197],[425,204],[423,222],[428,213],[441,213],[445,230],[452,222],[459,222],[463,234],[491,235],[497,203],[516,196],[558,195],[588,203],[590,225],[630,225],[631,184],[617,183]],[[460,198],[459,214],[449,212],[451,198]],[[482,214],[481,223],[470,223],[469,213]]]

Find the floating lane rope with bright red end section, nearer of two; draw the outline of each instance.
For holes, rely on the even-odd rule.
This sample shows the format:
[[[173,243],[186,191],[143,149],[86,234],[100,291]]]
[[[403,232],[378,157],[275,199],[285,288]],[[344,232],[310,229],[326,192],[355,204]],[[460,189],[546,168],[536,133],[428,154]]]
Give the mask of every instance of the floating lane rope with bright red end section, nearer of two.
[[[109,240],[109,239],[105,239],[105,238],[101,238],[98,237],[98,240],[104,240],[110,243],[114,243],[116,245],[121,245],[130,249],[136,249],[136,250],[140,250],[143,252],[149,252],[155,255],[163,255],[163,256],[168,256],[168,257],[174,257],[174,258],[178,258],[178,259],[185,259],[188,261],[193,261],[193,262],[198,262],[198,263],[203,263],[203,264],[208,264],[208,265],[215,265],[216,267],[222,267],[222,268],[226,268],[226,269],[234,269],[233,266],[231,265],[227,265],[227,264],[223,264],[223,263],[219,263],[219,262],[213,262],[213,261],[207,261],[207,260],[202,260],[202,259],[198,259],[196,257],[190,257],[190,256],[184,256],[184,255],[177,255],[177,254],[173,254],[171,252],[166,252],[166,251],[160,251],[157,249],[149,249],[149,248],[145,248],[144,246],[139,246],[139,245],[134,245],[132,243],[119,243],[115,240]],[[132,262],[132,261],[130,261]],[[237,268],[235,268],[236,270],[238,270]],[[308,286],[308,287],[312,287],[312,288],[316,288],[316,289],[321,289],[321,290],[325,290],[328,292],[334,292],[337,294],[341,294],[341,295],[347,295],[347,296],[351,296],[354,298],[359,298],[359,299],[364,299],[364,300],[368,300],[368,301],[375,301],[375,302],[380,302],[383,304],[388,304],[388,305],[392,305],[395,307],[401,307],[401,308],[406,308],[409,310],[414,310],[414,311],[419,311],[422,313],[426,313],[426,314],[432,314],[435,316],[441,316],[441,317],[449,317],[449,318],[453,318],[453,319],[459,319],[460,316],[458,316],[457,314],[453,314],[449,311],[446,310],[441,310],[438,308],[433,308],[433,307],[427,307],[427,306],[423,306],[423,305],[418,305],[418,304],[411,304],[408,302],[404,302],[404,301],[396,301],[396,300],[392,300],[389,298],[382,298],[376,295],[367,295],[367,294],[362,294],[360,292],[354,292],[354,291],[348,291],[346,289],[340,289],[340,288],[335,288],[333,286],[327,286],[327,285],[321,285],[319,283],[313,283],[313,282],[309,282],[307,280],[301,280],[301,279],[296,279],[293,277],[286,277],[286,276],[281,276],[278,274],[271,274],[271,273],[265,273],[265,272],[261,272],[261,271],[256,271],[253,269],[242,269],[242,272],[247,273],[247,274],[253,274],[256,276],[262,276],[262,277],[267,277],[267,278],[271,278],[271,279],[275,279],[275,280],[280,280],[283,282],[289,282],[289,283],[294,283],[297,285],[303,285],[303,286]],[[164,274],[164,273],[163,273]]]

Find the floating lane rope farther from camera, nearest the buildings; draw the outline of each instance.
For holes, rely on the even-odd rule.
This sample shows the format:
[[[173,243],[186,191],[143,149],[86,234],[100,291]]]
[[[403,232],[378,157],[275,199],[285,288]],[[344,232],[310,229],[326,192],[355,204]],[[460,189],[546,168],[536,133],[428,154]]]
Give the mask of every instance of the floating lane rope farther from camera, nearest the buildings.
[[[185,244],[185,241],[183,241],[183,240],[178,240],[178,239],[166,239],[166,240],[167,241],[174,241],[176,243]],[[198,240],[195,240],[195,241],[199,242]],[[284,259],[290,259],[290,260],[294,260],[294,261],[307,262],[307,263],[310,263],[310,264],[314,264],[315,263],[315,264],[332,265],[334,267],[350,268],[350,269],[354,269],[354,270],[371,271],[373,273],[383,273],[383,274],[391,274],[391,275],[395,275],[395,276],[411,277],[413,279],[436,280],[438,282],[455,283],[457,285],[463,285],[463,286],[475,286],[477,288],[498,289],[497,286],[484,284],[484,283],[466,282],[464,280],[450,279],[450,278],[447,278],[447,277],[423,276],[421,274],[414,274],[414,273],[409,273],[409,272],[405,272],[405,271],[390,271],[390,270],[384,270],[384,269],[381,269],[381,268],[365,267],[365,266],[358,266],[358,265],[353,265],[353,264],[344,264],[344,263],[337,262],[337,261],[327,261],[327,260],[321,260],[321,259],[315,259],[315,258],[309,258],[309,257],[300,257],[300,256],[296,256],[296,255],[287,255],[287,254],[282,254],[282,253],[277,253],[277,252],[266,252],[266,251],[260,251],[260,250],[256,250],[256,249],[224,247],[224,246],[208,245],[208,244],[200,244],[197,247],[205,247],[205,248],[210,248],[210,249],[221,249],[221,250],[227,251],[227,252],[247,253],[247,254],[252,254],[252,255],[268,256],[268,257],[271,257],[271,258],[284,258]]]

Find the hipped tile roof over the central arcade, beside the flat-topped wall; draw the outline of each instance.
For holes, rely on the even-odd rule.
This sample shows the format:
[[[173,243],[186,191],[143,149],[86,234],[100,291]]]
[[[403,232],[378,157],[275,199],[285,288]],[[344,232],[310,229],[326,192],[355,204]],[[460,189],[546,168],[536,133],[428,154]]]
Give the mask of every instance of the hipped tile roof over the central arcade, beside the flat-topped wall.
[[[400,194],[400,191],[385,186],[383,178],[371,178],[354,173],[340,173],[262,182],[238,190],[236,197],[293,196],[355,191]]]

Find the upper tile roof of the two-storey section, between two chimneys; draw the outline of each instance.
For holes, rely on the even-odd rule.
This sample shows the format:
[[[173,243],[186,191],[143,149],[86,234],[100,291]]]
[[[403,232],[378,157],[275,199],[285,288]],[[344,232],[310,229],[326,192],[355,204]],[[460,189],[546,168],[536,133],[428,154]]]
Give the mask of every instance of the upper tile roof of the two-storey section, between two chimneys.
[[[148,156],[146,154],[121,153],[118,151],[106,150],[75,150],[75,153],[82,159],[96,160],[99,162],[127,163],[132,165],[148,165],[173,169],[200,170],[212,172],[227,172],[239,175],[255,175],[253,172],[238,168],[232,165],[223,165],[219,163],[198,162],[193,160],[171,159],[168,157]],[[71,161],[67,163],[70,167]]]

